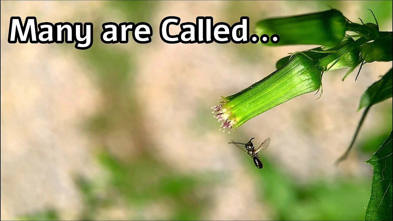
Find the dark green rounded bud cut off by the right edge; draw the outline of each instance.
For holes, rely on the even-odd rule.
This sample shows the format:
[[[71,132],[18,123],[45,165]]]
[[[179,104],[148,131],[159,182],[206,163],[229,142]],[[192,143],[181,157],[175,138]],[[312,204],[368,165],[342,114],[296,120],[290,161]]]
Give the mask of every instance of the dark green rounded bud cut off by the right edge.
[[[360,46],[360,53],[364,61],[368,63],[392,61],[392,33],[387,31],[380,33],[382,37]]]

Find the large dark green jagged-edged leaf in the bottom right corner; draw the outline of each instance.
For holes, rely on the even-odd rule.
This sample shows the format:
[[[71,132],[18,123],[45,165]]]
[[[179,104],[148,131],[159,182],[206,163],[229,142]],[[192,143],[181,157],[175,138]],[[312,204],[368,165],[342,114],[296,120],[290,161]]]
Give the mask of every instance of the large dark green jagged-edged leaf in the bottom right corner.
[[[392,133],[366,163],[373,166],[365,220],[392,220]]]

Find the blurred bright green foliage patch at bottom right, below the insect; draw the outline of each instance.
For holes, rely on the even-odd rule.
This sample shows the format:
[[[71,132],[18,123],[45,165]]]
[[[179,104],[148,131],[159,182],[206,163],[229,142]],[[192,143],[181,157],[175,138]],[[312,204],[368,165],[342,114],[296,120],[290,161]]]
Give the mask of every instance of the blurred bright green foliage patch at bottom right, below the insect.
[[[368,202],[369,180],[337,177],[334,180],[299,182],[265,157],[263,171],[257,171],[247,159],[259,195],[275,210],[273,220],[363,220]]]

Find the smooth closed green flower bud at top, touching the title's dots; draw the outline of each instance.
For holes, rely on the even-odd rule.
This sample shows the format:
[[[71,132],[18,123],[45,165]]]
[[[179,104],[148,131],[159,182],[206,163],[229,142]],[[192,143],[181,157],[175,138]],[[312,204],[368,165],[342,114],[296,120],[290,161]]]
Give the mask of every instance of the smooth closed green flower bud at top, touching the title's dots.
[[[259,36],[277,34],[280,41],[266,45],[320,44],[334,46],[340,44],[347,23],[340,11],[331,9],[319,13],[281,18],[268,18],[259,21],[255,33]]]

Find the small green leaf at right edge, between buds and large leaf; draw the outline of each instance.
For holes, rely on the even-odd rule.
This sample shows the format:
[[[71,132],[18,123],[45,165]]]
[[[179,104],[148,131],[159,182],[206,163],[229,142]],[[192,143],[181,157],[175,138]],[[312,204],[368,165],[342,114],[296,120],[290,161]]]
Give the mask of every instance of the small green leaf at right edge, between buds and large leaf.
[[[392,69],[373,83],[360,98],[359,108],[371,106],[392,97]]]

